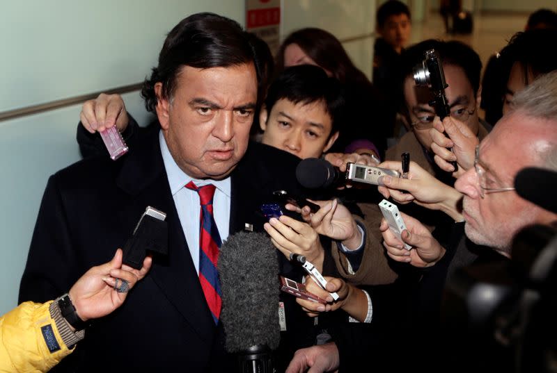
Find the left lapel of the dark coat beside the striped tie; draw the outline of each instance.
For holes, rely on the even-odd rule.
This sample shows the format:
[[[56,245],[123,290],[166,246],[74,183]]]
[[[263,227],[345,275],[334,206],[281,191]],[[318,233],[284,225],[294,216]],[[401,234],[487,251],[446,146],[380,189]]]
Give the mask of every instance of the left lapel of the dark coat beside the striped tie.
[[[136,149],[130,151],[117,183],[130,194],[131,206],[125,209],[125,213],[132,213],[133,219],[139,219],[147,206],[166,213],[168,257],[155,259],[149,276],[164,292],[168,301],[185,317],[191,328],[202,339],[210,341],[215,326],[205,303],[168,185],[158,132],[150,131],[143,141],[138,142]],[[123,216],[123,219],[130,217]]]

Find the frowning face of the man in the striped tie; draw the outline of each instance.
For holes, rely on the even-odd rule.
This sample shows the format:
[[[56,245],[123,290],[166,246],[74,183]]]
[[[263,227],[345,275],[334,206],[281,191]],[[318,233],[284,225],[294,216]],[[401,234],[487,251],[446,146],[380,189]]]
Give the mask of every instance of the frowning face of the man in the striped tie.
[[[253,64],[197,69],[182,67],[173,97],[157,116],[180,169],[196,179],[223,179],[244,156],[257,99]]]

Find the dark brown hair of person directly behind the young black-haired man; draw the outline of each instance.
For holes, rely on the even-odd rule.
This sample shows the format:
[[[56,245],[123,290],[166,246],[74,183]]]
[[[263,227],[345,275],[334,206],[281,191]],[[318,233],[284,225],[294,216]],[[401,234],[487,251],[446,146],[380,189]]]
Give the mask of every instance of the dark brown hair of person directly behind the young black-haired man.
[[[276,54],[276,73],[284,69],[284,51],[290,44],[297,44],[304,53],[323,69],[331,72],[341,83],[369,83],[346,53],[343,44],[331,33],[321,28],[301,28],[282,42]]]

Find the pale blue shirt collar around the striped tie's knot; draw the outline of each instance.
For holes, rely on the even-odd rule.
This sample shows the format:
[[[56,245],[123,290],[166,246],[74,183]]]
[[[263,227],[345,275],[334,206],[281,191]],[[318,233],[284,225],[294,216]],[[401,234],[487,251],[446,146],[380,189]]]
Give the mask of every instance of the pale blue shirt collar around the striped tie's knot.
[[[182,188],[185,187],[189,181],[193,181],[194,184],[198,187],[206,184],[214,185],[218,190],[222,193],[226,194],[227,197],[230,197],[230,176],[222,180],[210,180],[210,179],[194,179],[178,167],[176,164],[170,150],[168,150],[168,146],[166,145],[166,140],[164,140],[164,135],[162,135],[162,131],[159,132],[159,143],[161,146],[161,153],[162,153],[162,160],[164,162],[164,168],[166,169],[166,175],[168,177],[168,184],[170,185],[170,190],[172,195],[178,193]]]

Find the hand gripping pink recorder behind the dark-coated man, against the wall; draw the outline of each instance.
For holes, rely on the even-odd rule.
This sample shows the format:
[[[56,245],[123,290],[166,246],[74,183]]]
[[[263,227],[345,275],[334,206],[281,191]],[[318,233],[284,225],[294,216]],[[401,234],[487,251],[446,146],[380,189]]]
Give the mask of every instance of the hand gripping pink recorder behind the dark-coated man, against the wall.
[[[114,125],[118,131],[123,132],[130,122],[120,94],[104,93],[99,94],[96,99],[85,101],[79,119],[84,128],[91,133],[104,131]]]

